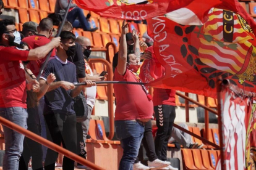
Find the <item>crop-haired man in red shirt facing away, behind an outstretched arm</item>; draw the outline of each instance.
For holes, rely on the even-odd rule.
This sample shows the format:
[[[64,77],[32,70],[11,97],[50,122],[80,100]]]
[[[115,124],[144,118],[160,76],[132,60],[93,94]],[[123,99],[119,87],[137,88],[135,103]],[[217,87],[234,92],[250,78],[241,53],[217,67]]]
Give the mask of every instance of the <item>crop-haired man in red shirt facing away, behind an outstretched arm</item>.
[[[36,47],[41,47],[44,46],[45,44],[48,44],[51,40],[49,37],[53,33],[53,20],[51,18],[43,18],[43,20],[40,21],[38,25],[38,34],[35,34],[33,36],[28,36],[26,38],[23,38],[22,41],[26,42],[30,49],[35,49]],[[53,52],[51,52],[51,57],[56,55],[56,49],[53,49]],[[31,61],[28,63],[27,68],[29,68],[32,73],[37,76],[41,64],[45,62],[46,58],[36,60],[36,61]]]

